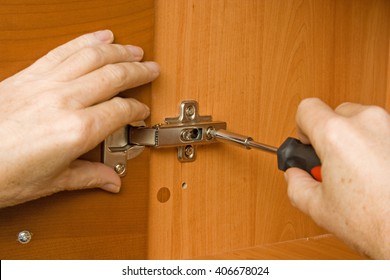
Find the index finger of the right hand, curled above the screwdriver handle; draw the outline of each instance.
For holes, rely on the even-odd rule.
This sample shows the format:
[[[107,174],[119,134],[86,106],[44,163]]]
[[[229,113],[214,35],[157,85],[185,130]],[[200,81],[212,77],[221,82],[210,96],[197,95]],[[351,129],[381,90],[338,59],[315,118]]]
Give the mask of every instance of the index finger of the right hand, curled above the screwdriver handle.
[[[302,142],[311,143],[321,156],[321,150],[317,143],[324,138],[324,126],[326,122],[336,116],[334,111],[318,98],[308,98],[303,100],[296,115],[298,133]]]

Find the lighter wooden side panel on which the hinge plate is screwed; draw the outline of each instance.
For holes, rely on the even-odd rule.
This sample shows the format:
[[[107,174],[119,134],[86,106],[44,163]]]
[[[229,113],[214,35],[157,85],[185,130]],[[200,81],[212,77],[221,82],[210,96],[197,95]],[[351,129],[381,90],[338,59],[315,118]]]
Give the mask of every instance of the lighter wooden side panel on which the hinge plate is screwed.
[[[278,146],[294,135],[303,98],[384,106],[389,8],[385,0],[157,1],[162,75],[152,87],[152,121],[196,99],[202,114]],[[153,151],[150,188],[150,258],[215,255],[324,233],[290,205],[270,154],[220,144],[181,164],[173,149]],[[164,203],[157,199],[162,188],[170,192]]]

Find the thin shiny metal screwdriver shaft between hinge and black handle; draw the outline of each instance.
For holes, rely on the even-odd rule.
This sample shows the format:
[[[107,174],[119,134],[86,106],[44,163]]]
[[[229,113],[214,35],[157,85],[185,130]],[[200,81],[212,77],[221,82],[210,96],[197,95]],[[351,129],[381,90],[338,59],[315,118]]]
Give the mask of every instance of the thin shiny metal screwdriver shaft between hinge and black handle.
[[[254,141],[251,137],[236,134],[229,132],[224,129],[219,130],[212,130],[210,132],[211,136],[217,139],[218,141],[225,142],[225,143],[231,143],[236,144],[238,146],[244,147],[246,149],[258,149],[270,153],[276,153],[278,151],[278,148],[269,146],[266,144],[258,143]]]

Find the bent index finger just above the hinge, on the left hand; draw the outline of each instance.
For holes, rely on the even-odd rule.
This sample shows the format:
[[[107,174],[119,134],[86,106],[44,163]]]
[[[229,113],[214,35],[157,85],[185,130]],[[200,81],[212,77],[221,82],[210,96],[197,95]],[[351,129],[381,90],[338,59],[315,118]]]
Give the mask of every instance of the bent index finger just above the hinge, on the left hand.
[[[85,141],[84,151],[92,149],[120,127],[144,120],[149,114],[145,104],[121,97],[85,109],[83,119],[89,124],[91,137]]]

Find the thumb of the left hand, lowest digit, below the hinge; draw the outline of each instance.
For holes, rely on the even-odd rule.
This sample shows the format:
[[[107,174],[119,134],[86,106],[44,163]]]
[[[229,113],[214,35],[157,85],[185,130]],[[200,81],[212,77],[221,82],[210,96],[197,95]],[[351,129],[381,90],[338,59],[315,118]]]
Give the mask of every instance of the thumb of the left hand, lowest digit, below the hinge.
[[[118,193],[121,186],[121,180],[112,168],[86,160],[73,161],[56,180],[64,190],[101,188]]]

